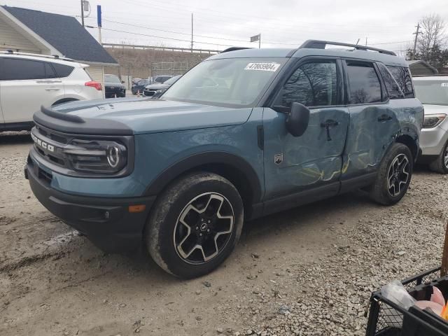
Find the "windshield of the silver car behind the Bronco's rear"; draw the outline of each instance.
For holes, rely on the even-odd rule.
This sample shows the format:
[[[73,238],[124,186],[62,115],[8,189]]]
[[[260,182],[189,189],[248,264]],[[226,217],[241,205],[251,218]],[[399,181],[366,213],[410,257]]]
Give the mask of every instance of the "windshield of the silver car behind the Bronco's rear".
[[[448,77],[445,80],[414,80],[414,88],[422,104],[448,105]]]

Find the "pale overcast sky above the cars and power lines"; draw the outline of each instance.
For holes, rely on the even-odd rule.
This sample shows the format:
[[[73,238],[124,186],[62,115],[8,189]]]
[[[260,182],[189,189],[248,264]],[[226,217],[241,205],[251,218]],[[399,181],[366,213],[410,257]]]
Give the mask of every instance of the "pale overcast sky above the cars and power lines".
[[[80,15],[80,0],[0,3]],[[97,27],[101,5],[104,43],[190,48],[193,13],[194,47],[214,50],[258,47],[248,41],[260,33],[265,48],[293,48],[309,38],[347,43],[359,38],[365,44],[367,38],[368,45],[399,51],[412,43],[414,26],[423,15],[437,13],[448,22],[448,0],[90,0],[90,5],[85,24]],[[98,38],[97,29],[87,29]]]

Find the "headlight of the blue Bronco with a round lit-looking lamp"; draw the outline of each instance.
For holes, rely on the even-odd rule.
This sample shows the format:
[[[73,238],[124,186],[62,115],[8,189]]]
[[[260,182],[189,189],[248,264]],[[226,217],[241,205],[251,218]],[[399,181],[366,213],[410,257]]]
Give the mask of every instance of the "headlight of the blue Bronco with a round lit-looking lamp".
[[[78,172],[116,174],[127,165],[127,148],[117,141],[73,139],[64,154]]]

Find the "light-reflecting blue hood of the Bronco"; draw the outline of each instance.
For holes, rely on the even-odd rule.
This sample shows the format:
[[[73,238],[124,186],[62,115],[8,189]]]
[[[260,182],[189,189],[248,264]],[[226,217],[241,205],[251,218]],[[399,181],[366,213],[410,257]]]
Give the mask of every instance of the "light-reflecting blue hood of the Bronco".
[[[123,98],[69,102],[53,110],[86,120],[118,122],[133,134],[195,130],[246,123],[252,108],[235,109],[160,99]],[[104,123],[107,124],[107,123]]]

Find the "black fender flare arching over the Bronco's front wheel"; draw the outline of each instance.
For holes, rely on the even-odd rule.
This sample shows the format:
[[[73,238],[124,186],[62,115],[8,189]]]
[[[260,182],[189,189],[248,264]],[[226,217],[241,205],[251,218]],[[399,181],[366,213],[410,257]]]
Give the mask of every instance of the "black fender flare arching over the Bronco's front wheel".
[[[207,165],[223,165],[223,167],[235,169],[235,172],[243,174],[248,186],[251,188],[251,201],[253,203],[260,202],[262,192],[255,169],[244,158],[229,152],[197,153],[179,160],[159,174],[153,183],[146,188],[144,195],[158,195],[178,176],[195,169],[207,167]]]

